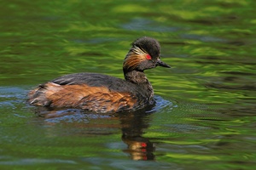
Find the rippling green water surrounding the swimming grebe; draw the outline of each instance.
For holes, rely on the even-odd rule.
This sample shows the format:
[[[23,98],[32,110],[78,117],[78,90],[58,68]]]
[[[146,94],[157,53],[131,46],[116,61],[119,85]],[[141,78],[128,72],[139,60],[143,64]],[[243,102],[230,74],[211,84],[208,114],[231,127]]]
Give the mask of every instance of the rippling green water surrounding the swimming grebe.
[[[255,169],[252,1],[3,1],[1,169]],[[55,77],[123,77],[137,37],[172,69],[146,71],[156,105],[93,114],[41,111],[27,92]]]

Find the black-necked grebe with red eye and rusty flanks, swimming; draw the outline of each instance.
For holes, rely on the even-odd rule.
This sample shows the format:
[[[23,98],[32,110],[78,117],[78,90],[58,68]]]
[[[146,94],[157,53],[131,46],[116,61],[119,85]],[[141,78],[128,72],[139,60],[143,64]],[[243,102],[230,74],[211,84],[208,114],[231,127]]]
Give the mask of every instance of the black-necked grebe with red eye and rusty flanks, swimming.
[[[160,60],[160,43],[141,37],[125,56],[125,80],[97,73],[76,73],[58,77],[28,94],[32,105],[79,108],[98,113],[134,111],[153,100],[154,91],[144,70],[170,67]]]

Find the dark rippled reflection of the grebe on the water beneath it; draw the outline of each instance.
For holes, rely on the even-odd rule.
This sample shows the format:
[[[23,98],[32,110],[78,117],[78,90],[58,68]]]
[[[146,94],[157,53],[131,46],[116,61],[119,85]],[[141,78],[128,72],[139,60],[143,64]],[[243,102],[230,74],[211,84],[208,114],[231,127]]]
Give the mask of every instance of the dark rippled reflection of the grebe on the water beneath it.
[[[114,114],[98,114],[86,112],[79,109],[66,109],[66,110],[54,110],[46,109],[42,107],[37,107],[35,113],[39,117],[44,118],[44,122],[49,126],[53,126],[56,123],[78,123],[79,127],[82,127],[80,133],[83,132],[83,135],[109,135],[111,133],[111,128],[121,129],[121,139],[127,144],[127,148],[121,149],[125,153],[128,153],[132,160],[143,160],[149,161],[154,160],[154,150],[155,144],[151,142],[148,138],[143,137],[143,133],[149,127],[151,122],[151,115],[156,111],[160,111],[165,107],[172,107],[172,102],[162,99],[159,96],[156,96],[155,102],[153,105],[148,105],[147,107],[131,112],[120,112]],[[106,121],[118,121],[118,125],[105,123],[104,125],[91,125],[90,120],[95,120],[101,122],[101,120]],[[82,122],[82,125],[81,125]],[[90,125],[88,125],[90,124]],[[87,132],[84,133],[83,128],[86,127],[98,127],[101,126],[105,128],[102,132]],[[107,129],[107,130],[106,130]],[[80,130],[80,129],[79,129]]]

